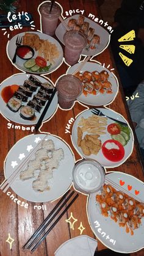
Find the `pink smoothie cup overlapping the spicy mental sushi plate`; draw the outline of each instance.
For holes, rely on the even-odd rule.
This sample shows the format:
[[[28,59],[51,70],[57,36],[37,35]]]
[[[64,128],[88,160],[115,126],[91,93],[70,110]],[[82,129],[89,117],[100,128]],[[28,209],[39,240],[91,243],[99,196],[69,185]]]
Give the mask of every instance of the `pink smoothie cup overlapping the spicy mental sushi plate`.
[[[69,65],[78,62],[82,49],[87,45],[87,38],[79,31],[70,30],[63,35],[65,60]]]

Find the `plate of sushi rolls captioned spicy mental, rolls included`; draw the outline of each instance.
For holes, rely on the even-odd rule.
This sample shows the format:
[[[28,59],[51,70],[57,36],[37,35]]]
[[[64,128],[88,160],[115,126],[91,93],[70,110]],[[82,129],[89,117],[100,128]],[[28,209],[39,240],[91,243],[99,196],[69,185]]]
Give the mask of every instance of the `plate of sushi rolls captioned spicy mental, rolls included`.
[[[109,45],[110,35],[103,27],[82,15],[73,15],[65,19],[68,30],[73,29],[81,32],[87,37],[87,46],[82,50],[84,56],[95,56],[102,53]],[[63,35],[67,32],[62,23],[57,26],[56,36],[63,42]]]

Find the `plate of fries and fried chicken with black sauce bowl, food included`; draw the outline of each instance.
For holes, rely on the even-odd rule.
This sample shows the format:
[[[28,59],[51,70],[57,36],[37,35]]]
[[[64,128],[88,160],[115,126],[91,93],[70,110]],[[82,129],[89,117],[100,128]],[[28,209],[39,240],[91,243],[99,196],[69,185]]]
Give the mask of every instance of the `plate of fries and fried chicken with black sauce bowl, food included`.
[[[20,45],[16,48],[16,42]],[[16,61],[13,57],[16,51]],[[15,35],[7,45],[7,54],[13,65],[29,73],[51,73],[63,62],[59,42],[40,32],[23,32]]]

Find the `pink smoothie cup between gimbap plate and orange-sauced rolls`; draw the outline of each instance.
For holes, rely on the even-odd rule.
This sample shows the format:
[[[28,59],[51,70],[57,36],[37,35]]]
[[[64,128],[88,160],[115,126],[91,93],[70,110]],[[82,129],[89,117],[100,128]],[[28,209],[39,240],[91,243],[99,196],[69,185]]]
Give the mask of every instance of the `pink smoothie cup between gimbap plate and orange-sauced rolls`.
[[[56,84],[58,101],[62,109],[70,109],[82,92],[82,82],[72,75],[62,76]]]

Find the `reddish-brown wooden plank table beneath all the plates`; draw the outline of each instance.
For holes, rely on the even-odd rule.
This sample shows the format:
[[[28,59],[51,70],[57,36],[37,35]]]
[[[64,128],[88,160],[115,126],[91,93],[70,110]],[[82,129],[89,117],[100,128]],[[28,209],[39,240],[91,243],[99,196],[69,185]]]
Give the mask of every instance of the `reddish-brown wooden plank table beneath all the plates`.
[[[40,29],[40,18],[37,12],[37,7],[40,4],[39,0],[26,0],[26,1],[20,1],[20,9],[19,11],[22,12],[29,12],[32,13],[32,16],[34,18],[34,24],[36,26],[36,29]],[[59,0],[59,3],[63,6],[63,16],[65,16],[65,11],[67,10],[76,10],[81,9],[85,10],[84,16],[87,16],[88,13],[93,13],[95,16],[99,16],[99,10],[96,6],[95,1],[90,0],[67,0],[62,1]],[[12,38],[15,34],[18,34],[22,31],[31,31],[31,29],[20,29],[18,31],[13,31],[10,33],[10,38]],[[13,65],[11,64],[10,60],[7,57],[6,54],[6,45],[7,45],[7,37],[3,36],[3,32],[1,33],[1,82],[8,78],[9,76],[20,73],[20,70],[17,70]],[[102,64],[105,63],[106,67],[110,64],[111,68],[115,68],[115,64],[113,63],[113,57],[112,53],[110,51],[110,48],[107,48],[103,53],[101,53],[98,57],[93,58],[95,60],[98,60]],[[48,75],[49,78],[52,79],[53,82],[56,81],[57,78],[59,78],[60,75],[65,73],[68,66],[63,63],[61,67],[59,67],[58,70],[51,73],[51,75]],[[118,77],[117,70],[114,70],[115,75]],[[113,109],[120,114],[122,114],[128,122],[131,123],[131,120],[129,119],[129,112],[128,108],[126,106],[126,100],[123,94],[123,90],[121,89],[118,92],[117,98],[115,98],[115,101],[113,101],[112,104],[109,106],[110,109]],[[51,120],[44,123],[41,132],[49,132],[51,134],[56,134],[62,139],[64,139],[71,147],[71,149],[74,152],[75,158],[80,159],[80,156],[74,149],[73,145],[71,144],[71,138],[70,134],[65,134],[65,126],[67,126],[68,120],[71,119],[71,117],[75,117],[79,112],[83,111],[85,109],[84,106],[82,106],[79,103],[76,103],[74,105],[74,108],[70,111],[62,111],[61,109],[57,109],[56,114],[54,117],[52,117]],[[7,123],[8,121],[4,119],[1,115],[1,129],[0,129],[0,137],[1,137],[1,147],[0,147],[0,153],[1,153],[1,182],[4,180],[4,159],[7,156],[7,153],[9,152],[10,148],[15,145],[15,143],[23,138],[24,136],[27,136],[31,134],[29,131],[21,131],[21,130],[14,130],[14,129],[7,129]],[[109,169],[110,171],[120,171],[127,174],[134,175],[134,177],[139,178],[140,180],[144,180],[143,178],[143,169],[142,169],[142,160],[139,156],[139,149],[137,147],[137,141],[135,141],[134,150],[132,152],[132,155],[128,158],[128,160],[122,164],[120,167]],[[13,193],[15,195],[15,193]],[[35,203],[29,202],[29,208],[24,209],[23,207],[20,207],[16,205],[16,203],[12,202],[10,198],[5,195],[3,192],[0,192],[0,208],[1,208],[1,255],[2,256],[24,256],[24,255],[31,255],[29,252],[23,252],[21,247],[26,242],[26,240],[32,235],[35,229],[41,224],[43,219],[46,218],[49,211],[56,205],[57,201],[53,203],[45,203],[46,209],[45,211],[42,210],[34,210]],[[16,197],[16,195],[15,195]],[[18,199],[21,199],[18,197]],[[90,225],[88,224],[87,220],[87,214],[85,211],[85,206],[87,202],[87,197],[80,194],[79,198],[74,202],[74,204],[71,206],[70,210],[63,216],[63,218],[59,221],[59,223],[54,227],[51,233],[49,233],[49,236],[46,238],[46,241],[41,244],[41,246],[38,247],[38,249],[34,252],[34,256],[53,256],[56,249],[62,244],[63,242],[67,241],[70,238],[73,238],[74,236],[80,235],[80,231],[77,229],[80,225],[80,222],[82,222],[82,225],[85,227],[83,235],[89,235],[92,238],[95,238],[95,235],[93,235],[92,230],[90,229]],[[37,205],[40,205],[38,203]],[[70,213],[73,212],[74,218],[76,218],[78,221],[74,225],[74,230],[70,229],[67,222],[65,222],[65,219],[68,219],[70,217]],[[5,240],[7,240],[8,233],[10,233],[10,236],[15,240],[12,246],[12,250],[10,250],[9,244],[5,243]],[[100,242],[98,242],[98,250],[103,249],[104,246]],[[134,253],[132,255],[143,255],[144,250],[141,252]]]

